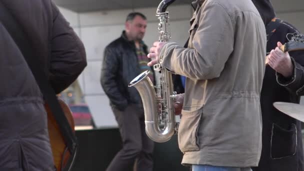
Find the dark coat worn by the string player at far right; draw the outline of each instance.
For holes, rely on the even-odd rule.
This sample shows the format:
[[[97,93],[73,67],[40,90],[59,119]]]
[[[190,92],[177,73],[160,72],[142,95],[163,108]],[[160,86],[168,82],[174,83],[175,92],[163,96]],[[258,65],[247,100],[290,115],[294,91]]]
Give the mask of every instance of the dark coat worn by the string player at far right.
[[[296,29],[282,22],[267,42],[267,52],[276,47],[276,42],[287,42],[286,34]],[[257,168],[253,171],[302,171],[304,170],[301,122],[273,107],[275,101],[299,103],[300,89],[304,85],[304,51],[289,52],[294,65],[293,75],[284,78],[266,65],[261,90],[262,153]]]

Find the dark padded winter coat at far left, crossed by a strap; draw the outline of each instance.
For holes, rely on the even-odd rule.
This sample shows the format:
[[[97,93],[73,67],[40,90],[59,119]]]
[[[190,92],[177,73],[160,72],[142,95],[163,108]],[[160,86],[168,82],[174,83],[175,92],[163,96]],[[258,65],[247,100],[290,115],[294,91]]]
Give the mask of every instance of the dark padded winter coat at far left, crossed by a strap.
[[[1,0],[58,93],[86,65],[83,44],[51,0]],[[0,11],[1,12],[1,11]],[[54,170],[43,97],[0,22],[0,170]]]

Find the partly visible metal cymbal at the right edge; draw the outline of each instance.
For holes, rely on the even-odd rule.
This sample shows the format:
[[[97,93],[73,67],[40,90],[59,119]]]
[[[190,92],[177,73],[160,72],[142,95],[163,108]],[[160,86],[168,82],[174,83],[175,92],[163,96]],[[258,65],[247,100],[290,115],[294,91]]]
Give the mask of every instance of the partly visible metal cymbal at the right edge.
[[[304,105],[290,102],[274,102],[273,106],[290,117],[304,122]]]

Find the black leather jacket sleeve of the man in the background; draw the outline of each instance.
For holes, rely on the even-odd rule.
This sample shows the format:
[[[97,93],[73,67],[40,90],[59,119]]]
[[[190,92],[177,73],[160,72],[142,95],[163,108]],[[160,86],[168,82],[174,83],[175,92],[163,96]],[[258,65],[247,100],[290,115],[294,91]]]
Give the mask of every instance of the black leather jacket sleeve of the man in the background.
[[[118,55],[112,47],[105,47],[101,66],[100,83],[103,91],[108,96],[112,104],[119,110],[124,110],[127,106],[126,98],[121,94],[117,84],[117,72],[119,69]]]

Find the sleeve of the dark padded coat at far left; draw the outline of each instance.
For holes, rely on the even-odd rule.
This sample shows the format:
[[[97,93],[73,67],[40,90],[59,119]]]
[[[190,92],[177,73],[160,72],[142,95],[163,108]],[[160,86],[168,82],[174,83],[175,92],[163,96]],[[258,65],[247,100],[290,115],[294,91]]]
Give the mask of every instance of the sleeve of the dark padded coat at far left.
[[[50,83],[56,93],[67,88],[86,66],[84,46],[54,3],[50,41]]]

